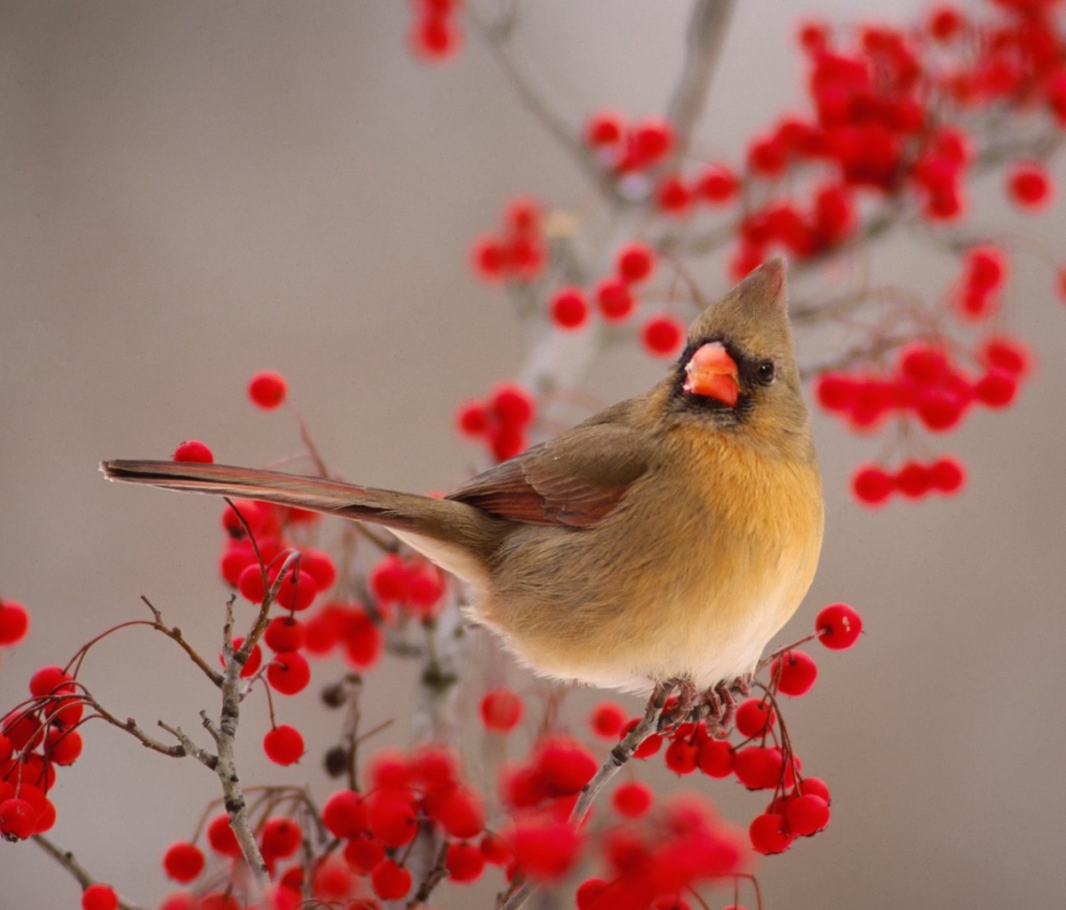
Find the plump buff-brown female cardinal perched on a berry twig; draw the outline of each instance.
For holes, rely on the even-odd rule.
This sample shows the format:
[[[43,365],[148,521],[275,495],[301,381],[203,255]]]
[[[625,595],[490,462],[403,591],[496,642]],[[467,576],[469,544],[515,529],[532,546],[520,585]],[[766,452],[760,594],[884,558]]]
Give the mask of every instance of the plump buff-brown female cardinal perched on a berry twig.
[[[225,465],[101,467],[384,525],[468,582],[470,617],[536,672],[631,691],[749,674],[822,545],[779,259],[704,310],[649,392],[443,499]]]

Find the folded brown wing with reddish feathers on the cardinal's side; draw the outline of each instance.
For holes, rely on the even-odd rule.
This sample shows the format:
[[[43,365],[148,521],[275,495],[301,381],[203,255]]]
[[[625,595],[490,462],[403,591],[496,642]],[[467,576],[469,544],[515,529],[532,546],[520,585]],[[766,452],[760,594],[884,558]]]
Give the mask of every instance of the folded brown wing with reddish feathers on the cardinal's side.
[[[631,427],[581,425],[479,474],[446,498],[524,524],[588,528],[647,472],[649,449]]]

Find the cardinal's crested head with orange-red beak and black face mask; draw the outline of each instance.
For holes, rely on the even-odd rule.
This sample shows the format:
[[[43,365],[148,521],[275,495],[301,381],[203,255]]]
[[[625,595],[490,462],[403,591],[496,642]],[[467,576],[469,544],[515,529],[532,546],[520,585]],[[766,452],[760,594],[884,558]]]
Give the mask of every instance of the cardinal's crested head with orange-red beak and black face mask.
[[[780,258],[764,262],[692,323],[667,388],[667,412],[678,420],[734,429],[772,445],[809,438]]]

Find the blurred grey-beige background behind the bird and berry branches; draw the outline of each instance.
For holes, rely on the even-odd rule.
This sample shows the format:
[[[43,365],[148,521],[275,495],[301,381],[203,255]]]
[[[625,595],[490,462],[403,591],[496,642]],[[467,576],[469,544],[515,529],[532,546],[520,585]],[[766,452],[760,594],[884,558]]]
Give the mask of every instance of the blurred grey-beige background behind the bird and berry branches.
[[[662,110],[687,2],[526,6],[520,45],[575,125],[600,107]],[[920,9],[739,4],[696,147],[736,160],[798,102],[801,18],[898,22]],[[39,666],[146,617],[141,594],[216,649],[217,504],[112,486],[97,462],[166,458],[190,437],[230,463],[298,452],[290,416],[247,403],[255,371],[287,376],[330,469],[351,480],[447,489],[479,463],[452,429],[454,408],[514,374],[523,349],[502,292],[471,277],[469,243],[519,192],[579,210],[589,191],[475,36],[430,67],[407,51],[410,20],[403,2],[0,3],[0,593],[33,622],[0,655],[0,704],[19,701]],[[1066,177],[1061,161],[1055,172]],[[1007,224],[996,180],[974,192],[979,228]],[[1066,258],[1061,206],[1019,228],[1059,238]],[[870,264],[926,293],[954,268],[905,240]],[[720,267],[697,274],[708,296],[725,289]],[[965,495],[860,509],[847,478],[879,443],[815,417],[825,548],[780,640],[837,600],[860,610],[868,634],[852,651],[815,653],[813,695],[788,706],[805,771],[833,788],[834,818],[760,864],[768,910],[1066,903],[1066,310],[1049,270],[1027,258],[1011,305],[1039,368],[1015,408],[980,412],[947,440],[969,465]],[[595,362],[589,385],[613,400],[661,371],[634,349]],[[198,730],[216,699],[168,645],[129,630],[94,649],[82,676],[122,717]],[[316,665],[314,678],[335,671]],[[395,715],[413,672],[390,661],[371,676],[368,724]],[[316,689],[277,700],[279,721],[301,727],[311,750],[288,769],[262,757],[265,707],[251,700],[245,782],[330,792],[314,753],[336,717]],[[575,729],[591,699],[570,705]],[[405,745],[397,719],[383,743]],[[192,833],[216,780],[112,728],[84,733],[84,756],[60,775],[51,836],[154,906],[162,851]],[[650,764],[639,776],[663,780]],[[687,785],[745,825],[760,811],[734,782]],[[446,888],[435,904],[487,907],[496,887]],[[0,845],[0,906],[78,900],[34,844]]]

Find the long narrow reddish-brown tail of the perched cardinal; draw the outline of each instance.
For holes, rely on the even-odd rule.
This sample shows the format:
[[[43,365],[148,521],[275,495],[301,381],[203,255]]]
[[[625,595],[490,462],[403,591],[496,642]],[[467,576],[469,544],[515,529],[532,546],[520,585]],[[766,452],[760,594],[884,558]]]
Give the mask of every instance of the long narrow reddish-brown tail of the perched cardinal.
[[[251,467],[124,460],[101,462],[100,470],[108,480],[295,506],[459,543],[474,550],[480,549],[484,524],[490,522],[483,512],[463,502]]]

